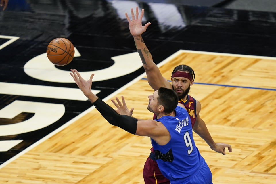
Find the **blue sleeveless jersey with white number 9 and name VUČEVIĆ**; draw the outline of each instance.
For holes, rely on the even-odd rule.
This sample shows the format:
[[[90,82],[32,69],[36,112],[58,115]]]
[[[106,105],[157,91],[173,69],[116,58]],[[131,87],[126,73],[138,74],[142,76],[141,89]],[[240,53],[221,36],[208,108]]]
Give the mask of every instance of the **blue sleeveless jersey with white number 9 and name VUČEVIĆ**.
[[[193,140],[191,119],[186,109],[177,106],[176,116],[163,116],[156,121],[168,129],[171,139],[159,145],[151,139],[156,162],[162,174],[171,182],[195,173],[201,164],[201,156]]]

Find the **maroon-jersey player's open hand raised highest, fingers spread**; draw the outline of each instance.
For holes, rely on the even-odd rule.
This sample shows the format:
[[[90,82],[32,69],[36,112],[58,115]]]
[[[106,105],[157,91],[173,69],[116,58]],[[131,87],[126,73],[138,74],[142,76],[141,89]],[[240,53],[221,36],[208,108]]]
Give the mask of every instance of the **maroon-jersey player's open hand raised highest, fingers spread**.
[[[147,30],[147,27],[150,25],[150,22],[145,24],[145,26],[142,26],[142,18],[144,15],[144,9],[142,9],[140,18],[139,17],[139,12],[138,12],[138,7],[136,7],[136,14],[134,16],[133,8],[131,8],[131,17],[132,21],[129,19],[129,16],[126,14],[127,20],[129,21],[129,31],[132,36],[141,36],[143,32]]]

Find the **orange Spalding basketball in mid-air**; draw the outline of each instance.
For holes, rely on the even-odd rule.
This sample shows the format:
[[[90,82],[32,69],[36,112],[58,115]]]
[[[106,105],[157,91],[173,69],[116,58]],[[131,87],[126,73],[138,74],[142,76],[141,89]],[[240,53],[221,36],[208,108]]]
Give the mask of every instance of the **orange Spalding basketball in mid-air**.
[[[47,47],[48,59],[57,66],[70,63],[74,53],[74,45],[66,38],[53,39]]]

